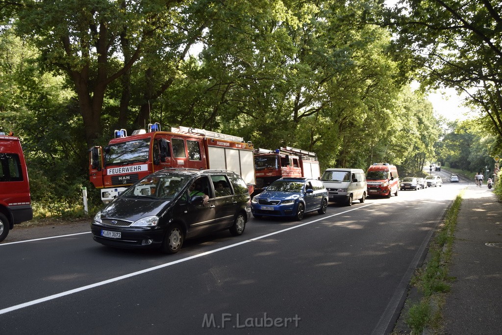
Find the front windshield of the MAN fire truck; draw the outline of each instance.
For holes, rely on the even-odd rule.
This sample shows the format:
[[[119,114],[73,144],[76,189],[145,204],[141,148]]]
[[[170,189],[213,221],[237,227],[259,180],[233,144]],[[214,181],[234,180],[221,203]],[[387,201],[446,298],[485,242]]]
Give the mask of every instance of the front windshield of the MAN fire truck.
[[[148,160],[150,139],[112,144],[106,153],[106,165],[145,162]]]

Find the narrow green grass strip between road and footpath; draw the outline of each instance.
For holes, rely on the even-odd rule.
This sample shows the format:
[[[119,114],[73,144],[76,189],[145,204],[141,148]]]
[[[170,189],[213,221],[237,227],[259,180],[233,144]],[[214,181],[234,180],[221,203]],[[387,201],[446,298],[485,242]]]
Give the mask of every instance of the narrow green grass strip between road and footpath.
[[[419,302],[410,306],[405,319],[412,334],[421,334],[425,328],[437,332],[441,328],[441,308],[444,304],[444,293],[450,290],[448,264],[451,260],[453,233],[457,225],[458,211],[462,203],[461,192],[448,209],[445,218],[438,227],[434,239],[431,241],[428,261],[418,269],[411,284],[422,295]]]

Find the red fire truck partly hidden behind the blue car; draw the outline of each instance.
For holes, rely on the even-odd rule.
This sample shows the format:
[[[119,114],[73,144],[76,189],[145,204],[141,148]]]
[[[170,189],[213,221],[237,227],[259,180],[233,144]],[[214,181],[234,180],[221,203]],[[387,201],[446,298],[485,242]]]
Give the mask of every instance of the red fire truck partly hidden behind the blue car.
[[[321,171],[317,155],[310,151],[281,147],[275,151],[255,149],[255,193],[281,177],[319,178]]]

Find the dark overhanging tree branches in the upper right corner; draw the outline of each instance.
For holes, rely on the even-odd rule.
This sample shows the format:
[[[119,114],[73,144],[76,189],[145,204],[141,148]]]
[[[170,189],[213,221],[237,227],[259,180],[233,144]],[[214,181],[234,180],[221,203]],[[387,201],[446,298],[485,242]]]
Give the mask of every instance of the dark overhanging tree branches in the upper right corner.
[[[453,87],[502,137],[500,4],[494,0],[409,0],[384,11],[402,67],[432,88]],[[413,60],[413,61],[410,61]]]

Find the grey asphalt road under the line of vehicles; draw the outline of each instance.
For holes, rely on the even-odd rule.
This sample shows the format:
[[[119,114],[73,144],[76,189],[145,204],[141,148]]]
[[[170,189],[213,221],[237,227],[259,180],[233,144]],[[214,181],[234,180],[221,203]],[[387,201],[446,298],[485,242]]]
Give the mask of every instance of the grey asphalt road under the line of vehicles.
[[[104,247],[87,227],[0,244],[0,333],[389,332],[467,185],[444,181],[300,222],[252,219],[240,237],[186,241],[176,255]]]

